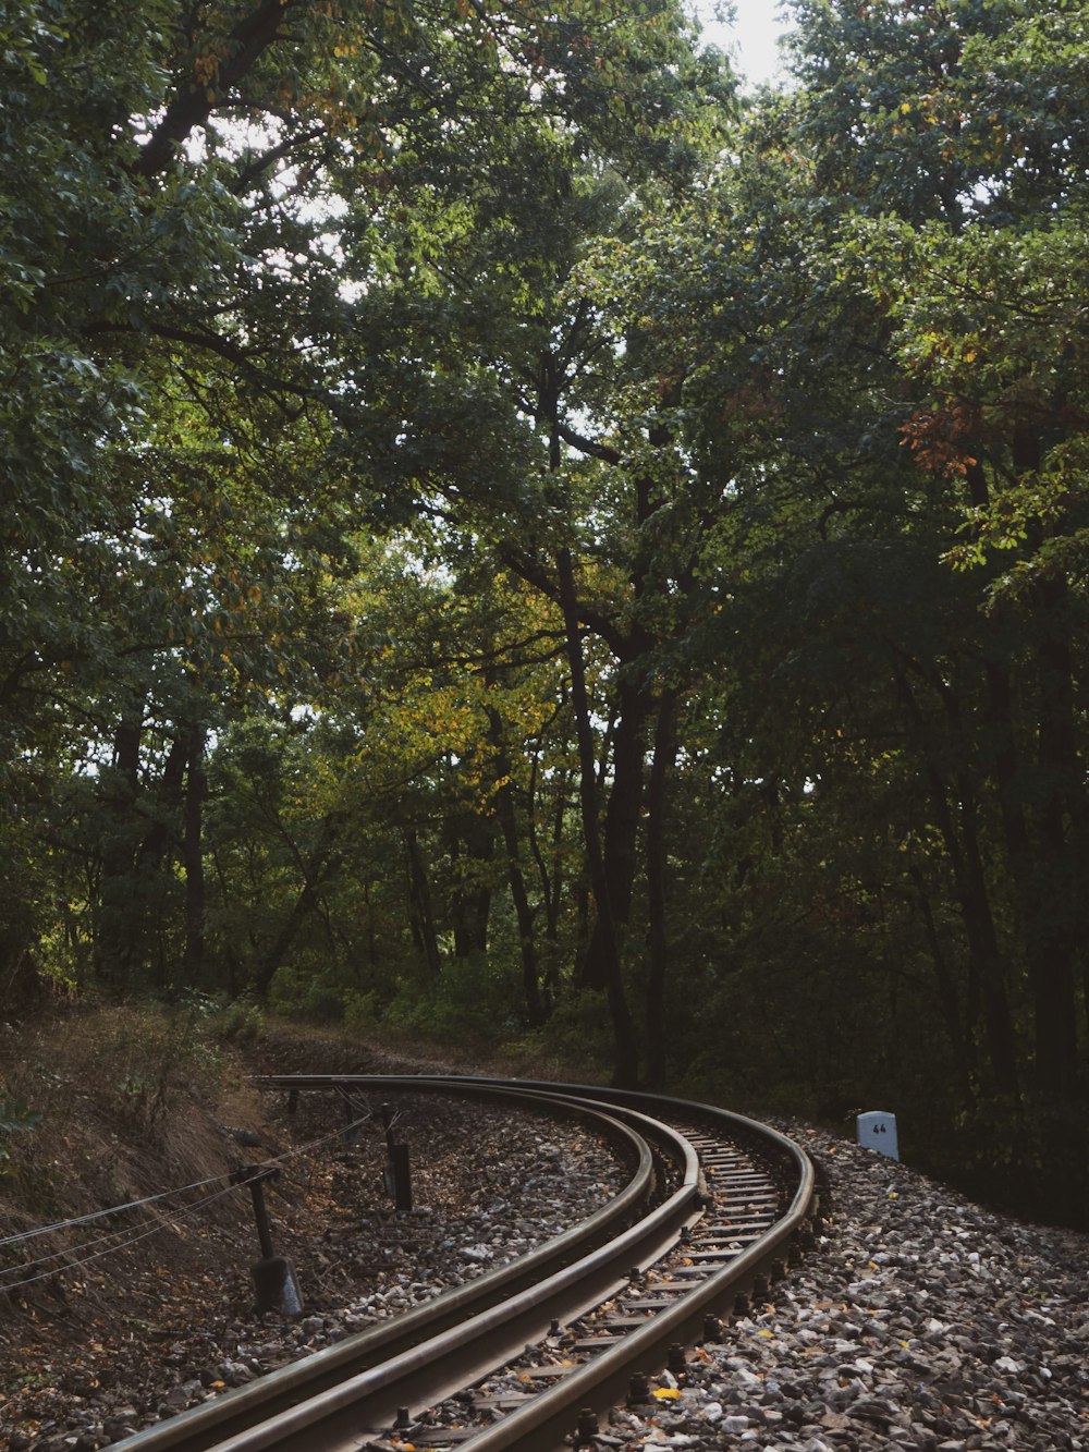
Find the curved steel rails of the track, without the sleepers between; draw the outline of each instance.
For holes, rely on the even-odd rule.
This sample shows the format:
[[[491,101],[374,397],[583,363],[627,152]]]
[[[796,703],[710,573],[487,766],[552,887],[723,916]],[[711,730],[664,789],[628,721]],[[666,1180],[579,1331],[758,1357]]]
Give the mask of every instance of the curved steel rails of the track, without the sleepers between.
[[[462,1440],[472,1452],[501,1448],[553,1448],[575,1424],[576,1408],[621,1401],[630,1375],[665,1363],[677,1342],[697,1339],[711,1311],[727,1310],[751,1289],[786,1243],[803,1225],[813,1205],[813,1167],[793,1141],[752,1119],[710,1105],[688,1104],[585,1085],[439,1076],[276,1076],[267,1086],[283,1089],[382,1089],[484,1096],[514,1096],[553,1112],[621,1121],[637,1150],[640,1189],[629,1186],[582,1225],[539,1247],[530,1256],[444,1292],[388,1323],[369,1327],[283,1371],[182,1413],[167,1423],[118,1443],[123,1452],[258,1452],[302,1448],[308,1452],[354,1452],[367,1435],[392,1422],[396,1411],[434,1406],[513,1359],[552,1320],[571,1321],[619,1295],[635,1265],[645,1268],[674,1249],[678,1234],[700,1220],[710,1204],[698,1157],[684,1134],[653,1119],[648,1109],[685,1124],[697,1119],[725,1140],[745,1140],[758,1154],[777,1162],[778,1201],[767,1228],[743,1236],[746,1244],[722,1252],[722,1265],[664,1304],[646,1324],[623,1336],[565,1375],[556,1387],[508,1413],[497,1424]],[[605,1109],[608,1114],[605,1115]],[[616,1128],[611,1133],[620,1133]],[[633,1202],[646,1194],[650,1151],[658,1146],[677,1166],[677,1188],[636,1224],[617,1231]],[[767,1198],[767,1196],[765,1196]],[[617,1208],[617,1202],[623,1205]],[[603,1234],[607,1243],[601,1243]],[[590,1243],[591,1249],[587,1249]],[[710,1255],[713,1260],[713,1253]],[[482,1302],[478,1297],[482,1294]],[[382,1361],[376,1361],[382,1356]],[[260,1420],[258,1420],[260,1419]]]

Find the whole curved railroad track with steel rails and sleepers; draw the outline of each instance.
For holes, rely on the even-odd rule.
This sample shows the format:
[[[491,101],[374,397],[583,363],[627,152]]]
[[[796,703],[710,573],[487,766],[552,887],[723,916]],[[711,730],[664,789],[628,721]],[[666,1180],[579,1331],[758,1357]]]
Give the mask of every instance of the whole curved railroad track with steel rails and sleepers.
[[[508,1265],[115,1443],[116,1452],[364,1452],[404,1440],[550,1452],[649,1395],[646,1376],[719,1336],[806,1239],[813,1167],[727,1111],[579,1085],[437,1076],[276,1076],[266,1086],[433,1092],[576,1115],[630,1160],[582,1224]],[[505,1374],[502,1368],[508,1368]],[[453,1398],[449,1407],[443,1403]]]

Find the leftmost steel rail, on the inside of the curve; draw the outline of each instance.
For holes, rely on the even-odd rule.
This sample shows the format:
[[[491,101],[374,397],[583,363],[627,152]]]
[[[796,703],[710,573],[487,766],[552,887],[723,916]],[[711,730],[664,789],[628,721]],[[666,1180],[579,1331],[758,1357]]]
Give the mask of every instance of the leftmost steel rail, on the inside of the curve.
[[[401,1085],[383,1079],[380,1088],[411,1088],[441,1092],[441,1080],[427,1086],[421,1083]],[[447,1085],[449,1092],[463,1092],[460,1080]],[[266,1424],[270,1419],[290,1411],[302,1401],[309,1401],[328,1388],[341,1387],[362,1371],[383,1366],[396,1358],[411,1356],[414,1349],[450,1329],[460,1329],[482,1308],[502,1305],[511,1297],[527,1289],[533,1291],[562,1268],[576,1262],[588,1244],[608,1241],[649,1198],[655,1183],[655,1166],[646,1140],[608,1115],[600,1104],[579,1102],[569,1095],[550,1096],[523,1090],[521,1086],[495,1082],[478,1085],[472,1090],[481,1098],[513,1102],[536,1109],[546,1108],[588,1122],[594,1130],[619,1140],[635,1160],[635,1172],[627,1185],[605,1205],[600,1207],[578,1225],[553,1236],[524,1256],[507,1265],[497,1266],[460,1286],[440,1292],[437,1297],[412,1307],[389,1320],[347,1336],[333,1346],[303,1356],[279,1371],[232,1388],[219,1397],[190,1407],[174,1417],[155,1423],[134,1436],[115,1443],[118,1452],[205,1452],[211,1448],[234,1445],[238,1436],[245,1436],[256,1423]],[[460,1331],[459,1331],[460,1334]],[[396,1403],[395,1406],[401,1406]],[[254,1443],[258,1445],[258,1443]],[[264,1445],[264,1443],[260,1443]],[[309,1448],[309,1443],[308,1443]]]

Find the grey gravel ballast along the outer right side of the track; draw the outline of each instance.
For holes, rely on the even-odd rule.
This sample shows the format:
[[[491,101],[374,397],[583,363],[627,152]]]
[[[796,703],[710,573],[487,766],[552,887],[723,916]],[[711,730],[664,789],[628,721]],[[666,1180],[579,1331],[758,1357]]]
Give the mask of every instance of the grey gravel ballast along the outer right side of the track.
[[[780,1124],[826,1176],[815,1252],[603,1446],[765,1452],[1089,1448],[1089,1237],[970,1204]]]

